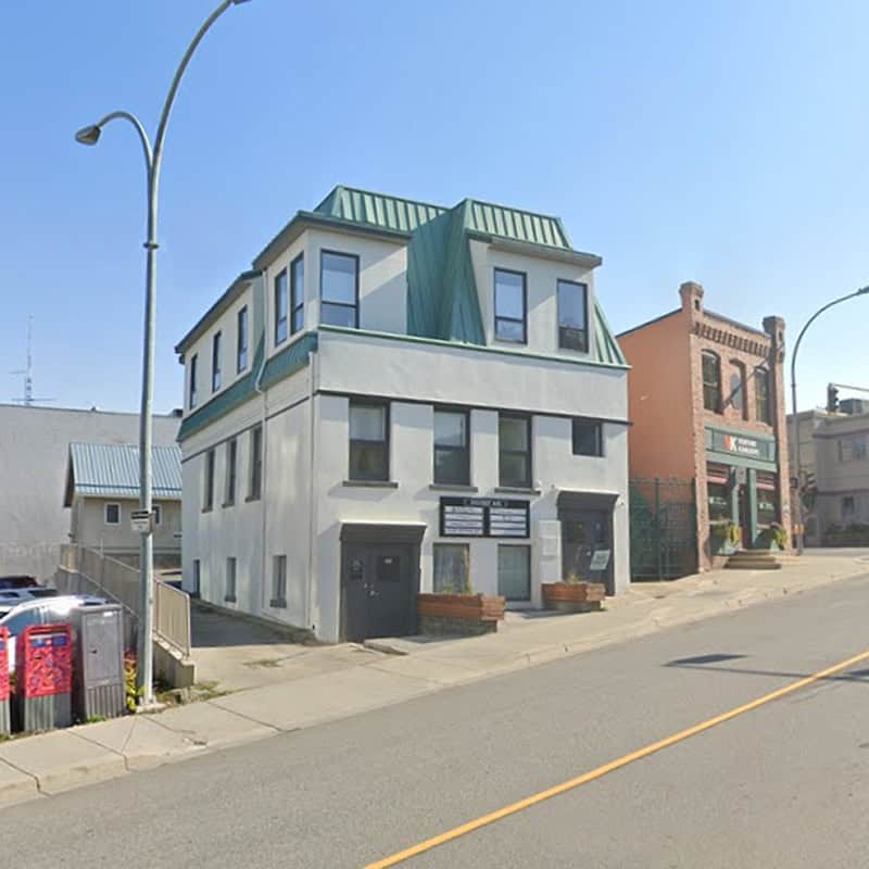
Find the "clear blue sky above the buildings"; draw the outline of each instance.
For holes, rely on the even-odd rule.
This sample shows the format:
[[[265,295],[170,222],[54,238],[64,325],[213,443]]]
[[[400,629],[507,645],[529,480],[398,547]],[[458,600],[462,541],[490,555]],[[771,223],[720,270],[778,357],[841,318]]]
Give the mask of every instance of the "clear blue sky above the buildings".
[[[10,3],[0,35],[0,401],[136,410],[139,144],[215,0]],[[253,0],[193,60],[166,144],[155,406],[175,342],[298,209],[337,182],[561,215],[599,253],[618,330],[678,304],[796,329],[869,284],[869,7],[860,2]],[[813,327],[801,401],[869,387],[869,298]]]

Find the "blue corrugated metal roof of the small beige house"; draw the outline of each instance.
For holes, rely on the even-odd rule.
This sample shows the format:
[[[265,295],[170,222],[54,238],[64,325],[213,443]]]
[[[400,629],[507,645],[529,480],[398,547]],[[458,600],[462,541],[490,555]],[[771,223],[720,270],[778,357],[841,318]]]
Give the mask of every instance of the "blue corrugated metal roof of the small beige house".
[[[181,451],[175,444],[151,450],[153,496],[179,499]],[[139,448],[128,443],[71,443],[68,487],[75,494],[91,498],[138,498]]]

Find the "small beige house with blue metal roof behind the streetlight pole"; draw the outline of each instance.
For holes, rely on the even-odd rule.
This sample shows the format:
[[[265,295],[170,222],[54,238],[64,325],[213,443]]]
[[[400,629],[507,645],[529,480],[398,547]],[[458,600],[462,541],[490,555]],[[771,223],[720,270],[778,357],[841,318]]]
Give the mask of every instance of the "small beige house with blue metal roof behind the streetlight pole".
[[[181,454],[154,446],[154,564],[178,567],[181,556]],[[72,508],[70,542],[138,565],[140,534],[130,514],[139,506],[139,448],[71,443],[63,504]]]

